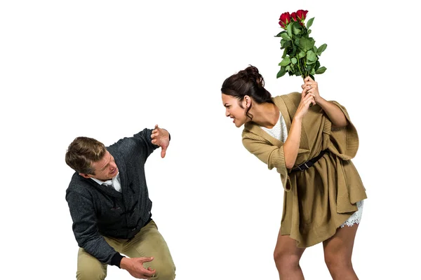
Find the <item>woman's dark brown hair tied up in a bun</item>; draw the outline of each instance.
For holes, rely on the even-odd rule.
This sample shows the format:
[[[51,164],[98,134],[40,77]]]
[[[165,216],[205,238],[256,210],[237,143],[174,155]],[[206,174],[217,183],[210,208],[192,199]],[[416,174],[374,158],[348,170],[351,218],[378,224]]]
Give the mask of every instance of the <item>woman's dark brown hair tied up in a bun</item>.
[[[221,92],[236,97],[240,102],[248,95],[258,104],[265,102],[274,103],[272,95],[265,89],[265,80],[262,75],[260,75],[259,70],[252,65],[249,65],[246,69],[226,78],[224,83],[222,83]],[[246,115],[250,119],[253,119],[253,115],[248,113],[250,109],[251,106],[248,107]]]

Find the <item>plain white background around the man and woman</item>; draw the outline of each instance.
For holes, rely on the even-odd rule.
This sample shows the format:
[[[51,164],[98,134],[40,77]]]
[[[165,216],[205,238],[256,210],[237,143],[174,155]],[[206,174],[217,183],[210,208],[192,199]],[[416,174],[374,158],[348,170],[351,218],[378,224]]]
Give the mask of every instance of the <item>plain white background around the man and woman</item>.
[[[0,278],[74,279],[68,144],[109,145],[157,123],[172,140],[166,158],[149,157],[147,183],[177,279],[278,279],[280,179],[243,148],[220,87],[252,64],[272,95],[300,90],[298,77],[276,79],[274,37],[279,15],[298,9],[315,18],[316,45],[328,44],[321,95],[343,104],[359,132],[354,164],[368,200],[354,268],[360,279],[415,279],[417,10],[362,0],[1,1]],[[321,244],[301,266],[306,279],[330,279]],[[132,279],[116,267],[108,275]]]

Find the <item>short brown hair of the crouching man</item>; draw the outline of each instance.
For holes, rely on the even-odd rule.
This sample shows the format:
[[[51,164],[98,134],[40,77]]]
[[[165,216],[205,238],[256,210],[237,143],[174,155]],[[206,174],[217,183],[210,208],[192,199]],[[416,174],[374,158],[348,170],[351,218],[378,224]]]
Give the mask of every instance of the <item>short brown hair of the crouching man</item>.
[[[107,153],[100,141],[89,137],[76,137],[66,152],[66,164],[74,171],[82,174],[93,174],[95,170],[91,162],[97,162]]]

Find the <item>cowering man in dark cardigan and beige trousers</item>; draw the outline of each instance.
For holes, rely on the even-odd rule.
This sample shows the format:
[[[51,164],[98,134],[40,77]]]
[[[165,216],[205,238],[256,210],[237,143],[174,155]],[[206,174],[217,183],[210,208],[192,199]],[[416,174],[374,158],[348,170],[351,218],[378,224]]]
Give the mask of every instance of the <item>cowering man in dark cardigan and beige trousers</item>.
[[[152,220],[145,180],[148,156],[161,147],[164,158],[169,142],[170,134],[155,125],[109,147],[88,137],[69,145],[66,163],[75,173],[66,200],[80,247],[76,279],[105,279],[107,265],[138,279],[175,279],[173,258]]]

